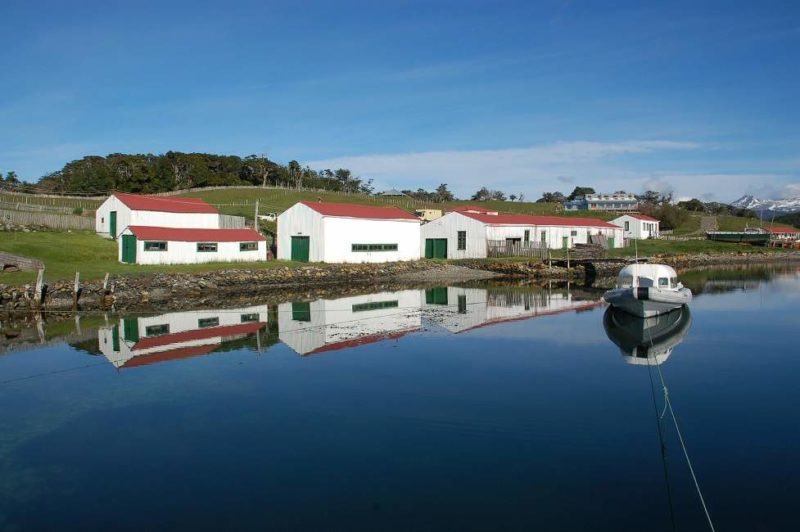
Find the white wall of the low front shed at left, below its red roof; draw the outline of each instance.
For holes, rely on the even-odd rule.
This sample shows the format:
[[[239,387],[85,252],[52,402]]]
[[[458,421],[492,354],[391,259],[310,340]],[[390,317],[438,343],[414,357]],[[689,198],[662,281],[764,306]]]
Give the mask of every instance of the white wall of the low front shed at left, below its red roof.
[[[123,234],[132,234],[129,230]],[[216,252],[198,252],[197,242],[167,242],[166,251],[145,251],[145,240],[136,239],[136,264],[200,264],[203,262],[256,262],[267,260],[267,243],[257,241],[258,249],[239,251],[240,242],[219,242]],[[122,239],[117,243],[117,259],[122,262]]]

